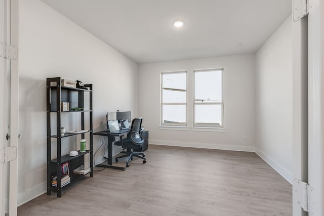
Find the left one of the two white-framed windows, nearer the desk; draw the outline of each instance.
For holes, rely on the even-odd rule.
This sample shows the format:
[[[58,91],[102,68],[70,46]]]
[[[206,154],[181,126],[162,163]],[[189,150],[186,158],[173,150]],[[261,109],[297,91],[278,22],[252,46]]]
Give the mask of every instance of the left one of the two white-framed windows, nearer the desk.
[[[187,125],[186,71],[161,73],[161,125]]]

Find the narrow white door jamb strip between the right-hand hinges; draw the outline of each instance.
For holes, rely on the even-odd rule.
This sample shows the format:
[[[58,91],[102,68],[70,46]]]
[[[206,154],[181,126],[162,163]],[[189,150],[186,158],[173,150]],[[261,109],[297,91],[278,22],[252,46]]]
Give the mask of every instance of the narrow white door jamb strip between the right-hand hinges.
[[[295,2],[297,3],[297,1]],[[297,6],[296,6],[297,7]],[[293,14],[293,178],[308,180],[308,100],[307,100],[307,17]],[[294,196],[296,194],[294,193]],[[307,215],[297,201],[293,201],[293,215]]]

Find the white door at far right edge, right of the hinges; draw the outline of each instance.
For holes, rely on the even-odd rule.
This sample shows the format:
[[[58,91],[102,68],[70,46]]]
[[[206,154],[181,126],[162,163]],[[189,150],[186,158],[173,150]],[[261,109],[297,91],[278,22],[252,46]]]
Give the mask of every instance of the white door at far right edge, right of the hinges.
[[[324,73],[323,73],[323,2],[309,1],[308,14],[308,184],[312,212],[324,215],[323,177],[323,124],[324,124]]]

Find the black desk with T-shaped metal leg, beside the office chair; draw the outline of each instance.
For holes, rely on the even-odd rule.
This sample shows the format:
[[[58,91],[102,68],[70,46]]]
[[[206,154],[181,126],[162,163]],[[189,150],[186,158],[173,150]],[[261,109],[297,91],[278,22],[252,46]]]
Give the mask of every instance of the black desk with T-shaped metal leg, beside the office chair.
[[[125,133],[121,133],[121,134],[114,134],[114,133],[110,133],[108,131],[101,131],[101,132],[93,133],[93,135],[105,136],[105,137],[108,138],[108,160],[107,160],[107,165],[101,163],[101,164],[98,164],[97,166],[125,170],[125,167],[113,166],[112,165],[112,142],[115,141],[115,137],[120,137],[120,139],[122,139],[121,137],[123,137],[124,135],[127,135],[128,133],[129,133],[129,131],[127,131]]]

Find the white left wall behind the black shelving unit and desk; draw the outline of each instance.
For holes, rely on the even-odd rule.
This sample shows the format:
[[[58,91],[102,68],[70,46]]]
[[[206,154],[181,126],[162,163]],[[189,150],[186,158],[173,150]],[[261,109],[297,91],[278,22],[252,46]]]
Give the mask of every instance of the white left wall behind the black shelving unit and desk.
[[[46,191],[46,78],[93,83],[99,131],[106,128],[106,112],[137,115],[137,75],[135,62],[41,1],[19,1],[19,205]],[[121,83],[125,89],[118,91]],[[94,150],[100,142],[94,136]]]

